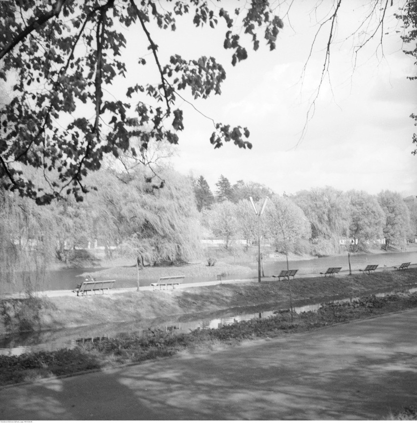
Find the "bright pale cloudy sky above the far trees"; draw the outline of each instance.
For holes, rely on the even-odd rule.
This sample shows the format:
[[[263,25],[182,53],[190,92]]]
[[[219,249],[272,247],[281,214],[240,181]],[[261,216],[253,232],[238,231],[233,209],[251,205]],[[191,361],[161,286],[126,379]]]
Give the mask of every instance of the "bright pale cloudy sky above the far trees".
[[[231,51],[223,49],[225,26],[216,31],[209,27],[196,29],[188,17],[185,22],[178,21],[176,32],[153,32],[162,62],[175,52],[189,59],[212,55],[222,63],[227,79],[221,96],[194,101],[189,92],[182,94],[216,122],[247,126],[253,143],[252,150],[239,149],[232,143],[214,150],[209,143],[212,122],[180,101],[185,130],[180,134],[177,156],[172,159],[174,167],[184,174],[203,175],[213,191],[223,174],[232,184],[239,179],[259,182],[280,194],[330,185],[372,194],[391,189],[404,196],[416,195],[417,157],[411,154],[416,147],[412,144],[415,127],[409,116],[416,112],[417,83],[406,79],[416,74],[416,67],[412,58],[401,51],[394,18],[390,19],[389,35],[384,36],[384,55],[377,48],[378,40],[370,43],[358,56],[354,71],[352,41],[332,47],[329,78],[322,85],[315,115],[299,142],[320,81],[324,37],[328,34],[319,36],[302,78],[317,30],[308,13],[312,4],[307,1],[293,6],[291,26],[284,21],[276,50],[269,51],[262,39],[258,51],[249,51],[249,58],[234,68]],[[324,11],[319,10],[319,14]],[[366,11],[360,2],[342,2],[336,41],[346,38]],[[396,11],[395,7],[389,8],[391,16]],[[136,52],[145,52],[146,46],[142,47],[132,31],[128,51],[135,50],[131,58],[134,63],[140,55]],[[148,56],[147,60],[151,59]]]

